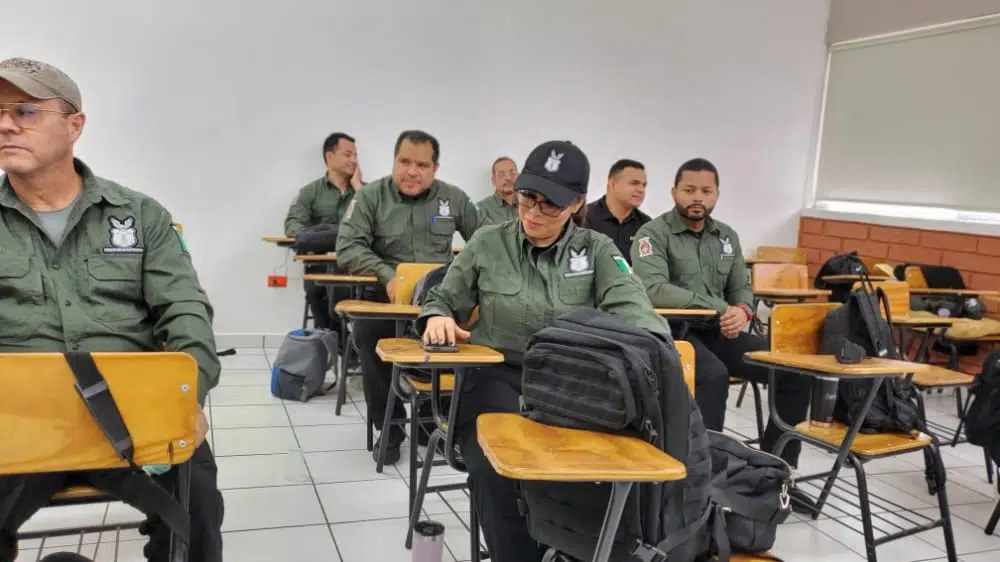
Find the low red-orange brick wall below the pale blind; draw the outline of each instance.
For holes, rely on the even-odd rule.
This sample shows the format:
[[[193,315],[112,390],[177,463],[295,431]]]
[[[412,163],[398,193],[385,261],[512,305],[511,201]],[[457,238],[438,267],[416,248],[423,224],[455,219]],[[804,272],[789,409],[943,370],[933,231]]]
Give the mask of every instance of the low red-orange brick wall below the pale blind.
[[[807,250],[810,276],[834,254],[857,250],[862,256],[883,258],[891,264],[951,265],[962,272],[969,288],[1000,291],[997,236],[802,217],[799,247]],[[1000,303],[987,301],[986,306],[991,316],[1000,318]],[[981,356],[963,360],[963,368],[970,372],[981,367]]]

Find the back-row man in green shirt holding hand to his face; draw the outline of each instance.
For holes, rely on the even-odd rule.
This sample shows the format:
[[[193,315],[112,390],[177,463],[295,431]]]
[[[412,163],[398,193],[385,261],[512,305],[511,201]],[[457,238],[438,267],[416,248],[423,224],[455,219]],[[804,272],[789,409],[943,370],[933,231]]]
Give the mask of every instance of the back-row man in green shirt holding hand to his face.
[[[354,200],[355,190],[361,189],[361,168],[358,166],[358,148],[354,138],[345,133],[333,133],[323,141],[323,162],[326,173],[307,183],[288,208],[285,217],[285,236],[296,236],[302,229],[317,224],[340,224],[347,207]],[[326,264],[311,264],[306,273],[326,273]],[[312,281],[303,282],[306,301],[312,310],[317,328],[338,329],[330,311],[336,301],[350,298],[350,290],[337,290],[330,302],[326,287]]]

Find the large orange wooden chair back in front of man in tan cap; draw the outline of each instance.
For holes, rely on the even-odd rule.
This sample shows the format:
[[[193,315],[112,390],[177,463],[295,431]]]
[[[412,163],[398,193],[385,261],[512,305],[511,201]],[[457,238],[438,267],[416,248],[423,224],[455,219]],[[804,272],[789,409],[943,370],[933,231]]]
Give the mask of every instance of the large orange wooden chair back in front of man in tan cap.
[[[139,465],[194,453],[198,365],[186,353],[94,353]],[[0,475],[125,468],[75,390],[61,353],[0,354]]]

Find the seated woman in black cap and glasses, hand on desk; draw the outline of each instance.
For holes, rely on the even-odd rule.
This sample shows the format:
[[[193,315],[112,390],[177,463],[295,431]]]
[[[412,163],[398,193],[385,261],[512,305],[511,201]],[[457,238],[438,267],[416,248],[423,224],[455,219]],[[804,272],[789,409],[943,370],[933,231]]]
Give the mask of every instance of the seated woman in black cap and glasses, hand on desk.
[[[530,562],[543,551],[528,534],[514,483],[498,475],[476,441],[476,418],[518,412],[521,361],[532,334],[580,306],[668,334],[638,278],[610,238],[580,228],[590,164],[568,142],[531,152],[514,185],[519,220],[481,228],[431,289],[418,320],[425,343],[486,345],[506,362],[464,379],[456,441],[469,471],[479,520],[495,562]],[[479,307],[469,332],[458,327]]]

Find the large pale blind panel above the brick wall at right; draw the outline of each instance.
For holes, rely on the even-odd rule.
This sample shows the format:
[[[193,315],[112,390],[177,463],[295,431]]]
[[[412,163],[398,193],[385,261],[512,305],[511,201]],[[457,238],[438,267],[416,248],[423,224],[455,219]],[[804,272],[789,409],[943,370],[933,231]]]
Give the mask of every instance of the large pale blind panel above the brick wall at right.
[[[831,48],[816,199],[1000,212],[1000,17]]]

